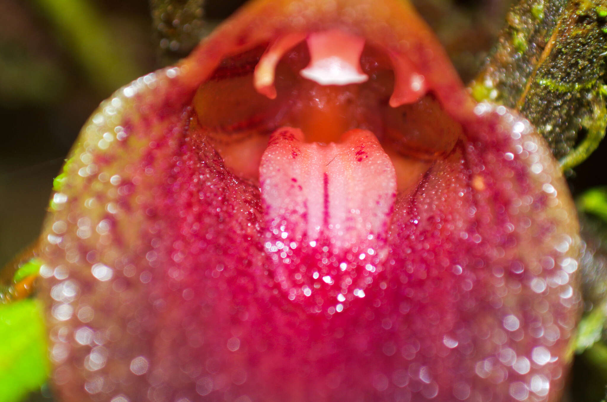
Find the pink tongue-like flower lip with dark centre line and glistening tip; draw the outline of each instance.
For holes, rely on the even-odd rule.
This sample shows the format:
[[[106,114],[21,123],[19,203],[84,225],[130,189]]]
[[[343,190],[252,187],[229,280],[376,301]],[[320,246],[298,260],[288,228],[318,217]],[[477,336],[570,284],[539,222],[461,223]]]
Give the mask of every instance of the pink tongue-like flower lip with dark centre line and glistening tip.
[[[388,254],[394,167],[371,132],[344,137],[310,144],[299,129],[279,129],[260,165],[274,280],[291,300],[309,298],[311,312],[321,312],[327,296],[334,305],[325,308],[343,308],[345,295],[364,291]]]

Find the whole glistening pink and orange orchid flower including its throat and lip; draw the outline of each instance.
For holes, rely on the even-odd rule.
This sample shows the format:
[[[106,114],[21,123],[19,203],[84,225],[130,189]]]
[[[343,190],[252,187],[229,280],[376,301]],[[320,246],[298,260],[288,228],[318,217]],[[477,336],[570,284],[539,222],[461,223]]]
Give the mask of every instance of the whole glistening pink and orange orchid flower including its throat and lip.
[[[63,401],[556,401],[578,224],[407,2],[257,0],[84,126],[44,228]]]

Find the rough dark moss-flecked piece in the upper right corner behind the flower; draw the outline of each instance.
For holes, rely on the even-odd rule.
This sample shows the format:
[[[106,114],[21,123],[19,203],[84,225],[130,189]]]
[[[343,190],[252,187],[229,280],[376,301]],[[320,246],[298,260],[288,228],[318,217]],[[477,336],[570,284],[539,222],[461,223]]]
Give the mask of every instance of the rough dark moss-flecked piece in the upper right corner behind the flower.
[[[607,0],[520,0],[471,85],[529,119],[563,170],[605,137],[606,13]]]

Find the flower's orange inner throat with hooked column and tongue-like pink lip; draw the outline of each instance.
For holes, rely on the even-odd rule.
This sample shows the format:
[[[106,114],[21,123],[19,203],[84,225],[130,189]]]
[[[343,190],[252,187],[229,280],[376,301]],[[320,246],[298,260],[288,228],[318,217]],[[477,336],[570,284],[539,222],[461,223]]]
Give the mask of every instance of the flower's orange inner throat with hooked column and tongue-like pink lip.
[[[409,56],[351,30],[293,31],[263,47],[224,58],[198,87],[190,135],[259,185],[268,275],[282,293],[328,312],[325,300],[364,293],[384,270],[392,213],[408,203],[397,192],[463,129]],[[327,68],[336,59],[349,74],[339,80]]]

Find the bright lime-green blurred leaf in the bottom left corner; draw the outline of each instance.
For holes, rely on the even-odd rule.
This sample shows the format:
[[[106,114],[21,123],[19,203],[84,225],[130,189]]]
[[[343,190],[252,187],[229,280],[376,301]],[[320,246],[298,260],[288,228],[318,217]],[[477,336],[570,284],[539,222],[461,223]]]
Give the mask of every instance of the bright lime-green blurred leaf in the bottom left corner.
[[[35,299],[0,305],[0,402],[17,402],[47,380],[42,311]]]

